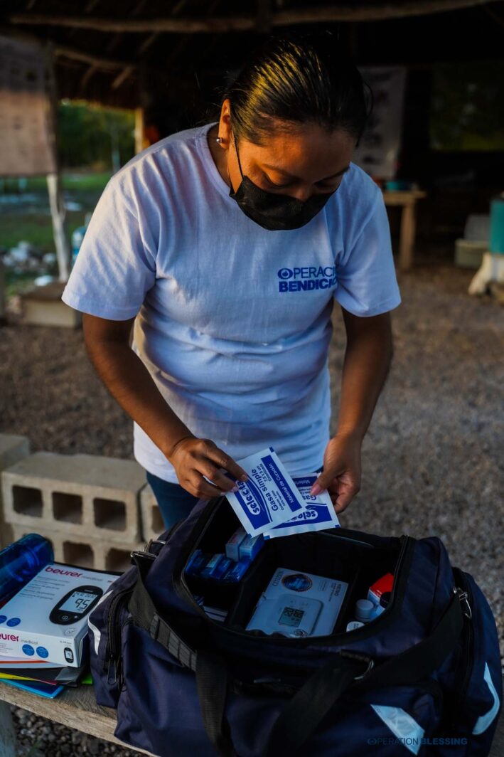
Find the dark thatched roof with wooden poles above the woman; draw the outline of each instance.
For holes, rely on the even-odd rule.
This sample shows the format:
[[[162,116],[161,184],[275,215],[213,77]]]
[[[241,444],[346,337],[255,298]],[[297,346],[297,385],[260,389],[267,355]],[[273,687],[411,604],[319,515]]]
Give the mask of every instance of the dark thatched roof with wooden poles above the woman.
[[[208,93],[222,83],[227,71],[241,64],[260,36],[279,27],[339,27],[350,48],[356,45],[356,26],[359,31],[368,27],[365,51],[372,27],[375,49],[382,55],[386,51],[381,62],[395,62],[392,40],[404,45],[400,38],[405,34],[410,35],[409,46],[416,44],[418,53],[432,55],[431,39],[421,36],[427,23],[434,26],[433,14],[437,29],[450,28],[452,37],[458,32],[459,17],[474,14],[468,23],[474,42],[474,19],[490,28],[493,8],[504,20],[500,0],[87,0],[82,4],[5,0],[0,6],[0,33],[51,44],[61,98],[118,107],[164,100],[182,102],[190,110],[198,94],[205,93],[208,100]],[[385,32],[389,24],[378,23],[385,20],[395,31]],[[406,32],[398,34],[397,24],[406,24]],[[450,35],[444,39],[450,45]],[[481,39],[481,44],[489,48],[487,40]]]

